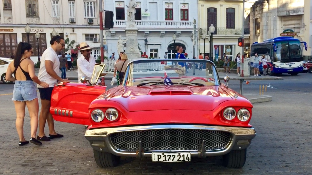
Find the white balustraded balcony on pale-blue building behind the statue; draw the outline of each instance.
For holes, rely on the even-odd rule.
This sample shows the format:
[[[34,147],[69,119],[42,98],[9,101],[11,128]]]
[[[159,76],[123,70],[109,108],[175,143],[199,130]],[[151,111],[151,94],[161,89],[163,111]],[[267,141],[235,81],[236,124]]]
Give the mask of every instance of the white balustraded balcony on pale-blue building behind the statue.
[[[190,21],[135,21],[138,28],[189,28],[193,29]],[[114,28],[126,28],[127,21],[115,20]]]

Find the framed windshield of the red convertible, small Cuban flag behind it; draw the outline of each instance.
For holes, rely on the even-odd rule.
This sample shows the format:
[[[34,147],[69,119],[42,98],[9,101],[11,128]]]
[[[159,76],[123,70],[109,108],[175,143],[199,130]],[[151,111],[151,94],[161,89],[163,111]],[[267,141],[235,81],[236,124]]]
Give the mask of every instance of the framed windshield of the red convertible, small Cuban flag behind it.
[[[146,59],[129,63],[124,86],[150,85],[220,85],[211,61],[199,59]]]

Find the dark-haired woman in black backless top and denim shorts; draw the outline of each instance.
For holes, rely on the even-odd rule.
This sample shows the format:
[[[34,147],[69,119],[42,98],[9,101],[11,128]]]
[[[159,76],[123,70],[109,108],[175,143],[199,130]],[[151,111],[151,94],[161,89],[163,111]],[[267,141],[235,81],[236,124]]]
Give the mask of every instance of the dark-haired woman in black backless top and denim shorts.
[[[16,56],[7,68],[6,81],[15,81],[13,89],[13,102],[16,110],[16,129],[19,136],[19,146],[28,144],[24,138],[25,105],[30,115],[31,139],[36,145],[42,143],[36,138],[38,128],[39,103],[35,83],[43,88],[49,87],[46,82],[40,81],[35,74],[34,62],[30,60],[33,53],[32,45],[27,42],[18,43]],[[12,77],[14,74],[14,77]],[[35,82],[35,83],[34,83]]]

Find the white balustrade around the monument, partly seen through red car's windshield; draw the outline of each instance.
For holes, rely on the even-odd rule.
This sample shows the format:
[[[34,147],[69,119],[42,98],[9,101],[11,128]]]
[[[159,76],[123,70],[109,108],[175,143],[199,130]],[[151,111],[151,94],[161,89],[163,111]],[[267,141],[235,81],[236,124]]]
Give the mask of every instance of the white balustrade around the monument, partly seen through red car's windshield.
[[[114,71],[115,60],[104,60],[105,70],[109,72]],[[167,64],[161,64],[160,62],[150,62],[150,63],[138,63],[134,64],[133,70],[134,72],[147,72],[147,71],[162,71],[164,70],[164,66]],[[173,62],[172,64],[177,65],[177,62]]]

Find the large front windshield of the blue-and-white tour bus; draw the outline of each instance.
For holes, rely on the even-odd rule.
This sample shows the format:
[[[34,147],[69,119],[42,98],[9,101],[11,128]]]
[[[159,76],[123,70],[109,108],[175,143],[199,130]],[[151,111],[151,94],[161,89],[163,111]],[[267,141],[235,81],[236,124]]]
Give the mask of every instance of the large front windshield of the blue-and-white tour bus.
[[[303,61],[300,41],[277,41],[275,61],[281,63]]]

